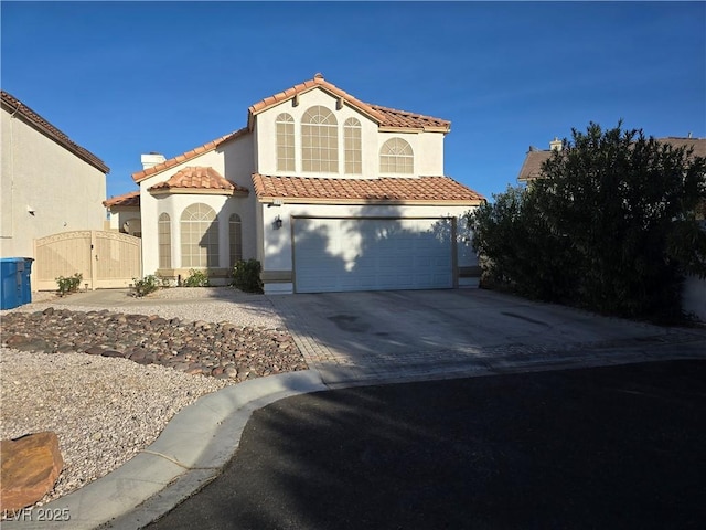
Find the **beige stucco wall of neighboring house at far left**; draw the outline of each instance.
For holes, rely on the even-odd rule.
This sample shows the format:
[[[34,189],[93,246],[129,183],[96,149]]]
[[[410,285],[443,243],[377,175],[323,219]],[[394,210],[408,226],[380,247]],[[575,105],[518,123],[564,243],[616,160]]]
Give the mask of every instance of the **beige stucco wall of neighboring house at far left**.
[[[0,256],[34,257],[36,237],[73,230],[104,230],[105,173],[21,117],[11,117],[4,108],[0,114]]]

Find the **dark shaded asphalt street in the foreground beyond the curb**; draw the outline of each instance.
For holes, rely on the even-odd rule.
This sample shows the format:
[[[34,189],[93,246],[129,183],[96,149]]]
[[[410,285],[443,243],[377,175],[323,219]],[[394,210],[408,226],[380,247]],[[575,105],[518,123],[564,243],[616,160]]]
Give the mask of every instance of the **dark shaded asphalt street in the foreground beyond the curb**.
[[[704,361],[301,395],[148,528],[704,528],[705,426]]]

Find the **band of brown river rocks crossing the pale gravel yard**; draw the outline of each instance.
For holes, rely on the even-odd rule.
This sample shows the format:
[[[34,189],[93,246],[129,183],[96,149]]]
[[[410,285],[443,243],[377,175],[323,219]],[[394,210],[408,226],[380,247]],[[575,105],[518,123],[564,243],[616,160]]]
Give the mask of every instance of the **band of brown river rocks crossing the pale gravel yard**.
[[[56,309],[8,312],[3,315],[2,329],[2,344],[10,348],[122,357],[140,364],[156,363],[233,381],[307,369],[303,357],[284,328]],[[236,364],[237,369],[226,370]],[[215,370],[220,367],[223,371]]]

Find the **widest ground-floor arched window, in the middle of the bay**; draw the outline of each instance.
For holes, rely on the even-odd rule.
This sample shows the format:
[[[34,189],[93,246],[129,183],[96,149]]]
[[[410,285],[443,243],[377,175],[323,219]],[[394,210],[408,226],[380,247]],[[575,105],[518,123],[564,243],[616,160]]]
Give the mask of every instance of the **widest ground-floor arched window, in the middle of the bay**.
[[[192,204],[181,214],[181,266],[218,266],[218,218],[206,204]]]

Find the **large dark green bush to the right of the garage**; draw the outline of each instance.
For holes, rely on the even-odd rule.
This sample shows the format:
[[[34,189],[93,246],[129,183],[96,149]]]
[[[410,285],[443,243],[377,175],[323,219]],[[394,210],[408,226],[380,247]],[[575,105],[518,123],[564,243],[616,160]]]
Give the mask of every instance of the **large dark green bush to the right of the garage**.
[[[642,130],[573,129],[526,188],[472,215],[484,280],[601,312],[673,318],[706,276],[706,159]]]

